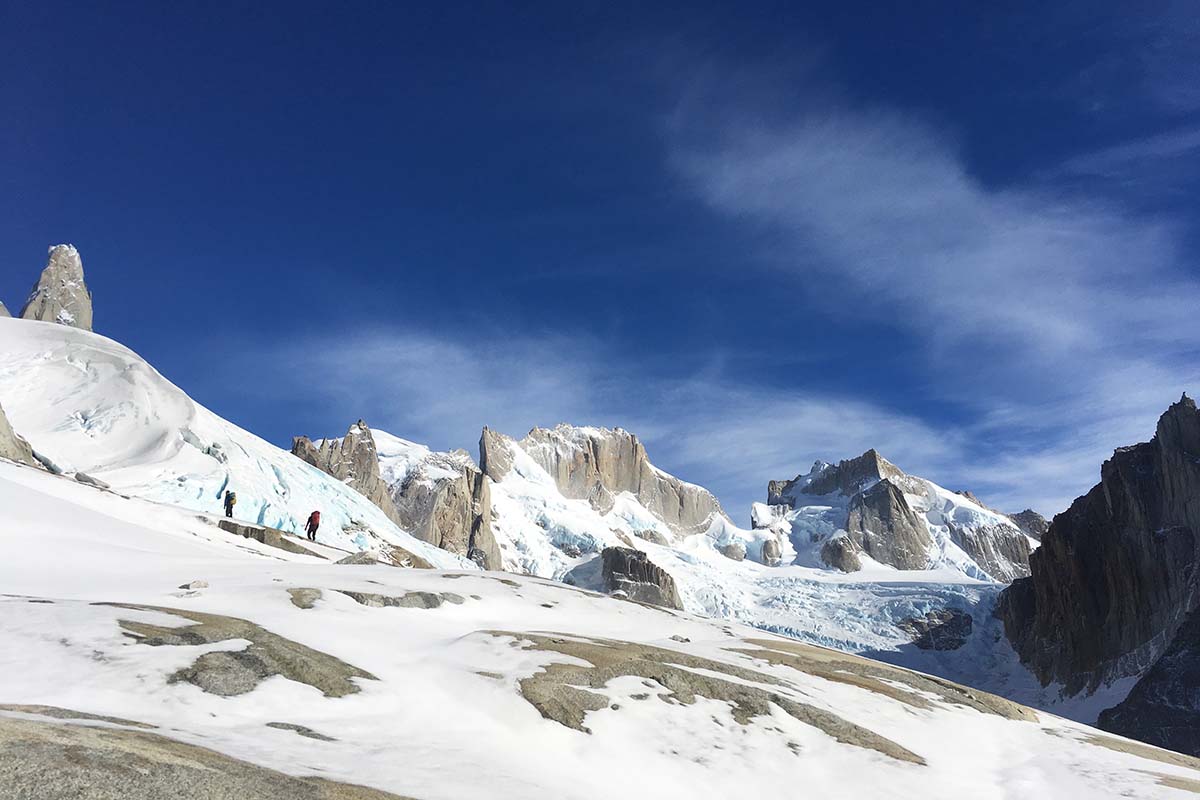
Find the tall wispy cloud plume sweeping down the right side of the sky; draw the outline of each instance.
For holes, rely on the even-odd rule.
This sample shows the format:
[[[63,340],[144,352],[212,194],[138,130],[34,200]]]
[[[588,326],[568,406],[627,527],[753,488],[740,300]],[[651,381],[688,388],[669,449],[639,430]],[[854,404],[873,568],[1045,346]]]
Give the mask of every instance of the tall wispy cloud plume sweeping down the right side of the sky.
[[[924,342],[913,374],[966,420],[949,473],[1000,503],[1063,507],[1200,380],[1200,284],[1171,221],[1052,184],[984,186],[952,139],[901,114],[764,122],[708,100],[673,119],[680,173],[744,223],[780,285]]]

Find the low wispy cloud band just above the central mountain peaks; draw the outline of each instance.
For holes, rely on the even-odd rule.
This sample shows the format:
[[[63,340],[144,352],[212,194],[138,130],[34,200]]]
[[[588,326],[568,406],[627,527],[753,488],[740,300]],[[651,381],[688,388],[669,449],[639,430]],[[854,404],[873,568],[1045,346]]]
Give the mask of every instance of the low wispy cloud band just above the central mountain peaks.
[[[719,362],[683,378],[586,337],[491,331],[479,339],[403,327],[319,331],[247,350],[258,380],[318,407],[334,435],[353,419],[475,455],[482,426],[521,437],[557,422],[624,427],[661,468],[708,487],[746,523],[767,481],[869,447],[930,475],[956,474],[961,437],[870,402],[746,387]],[[253,365],[253,366],[251,366]],[[313,379],[313,377],[317,377]],[[946,480],[949,480],[947,477]]]

